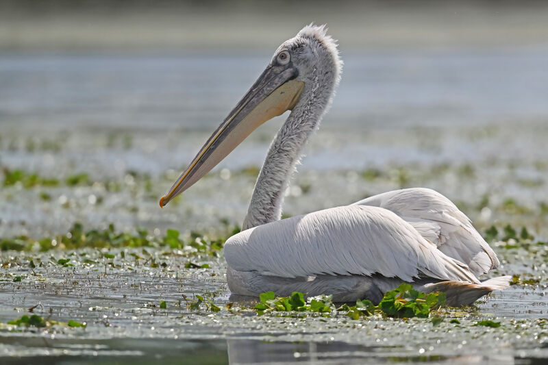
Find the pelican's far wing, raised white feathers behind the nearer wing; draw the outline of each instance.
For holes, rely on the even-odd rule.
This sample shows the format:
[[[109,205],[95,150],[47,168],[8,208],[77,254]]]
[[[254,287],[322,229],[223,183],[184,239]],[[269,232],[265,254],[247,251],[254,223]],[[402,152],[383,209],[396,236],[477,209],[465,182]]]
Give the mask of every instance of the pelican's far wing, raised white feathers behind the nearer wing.
[[[412,225],[438,249],[468,264],[475,275],[499,266],[497,255],[470,219],[439,192],[410,188],[384,192],[355,203],[390,210]]]

